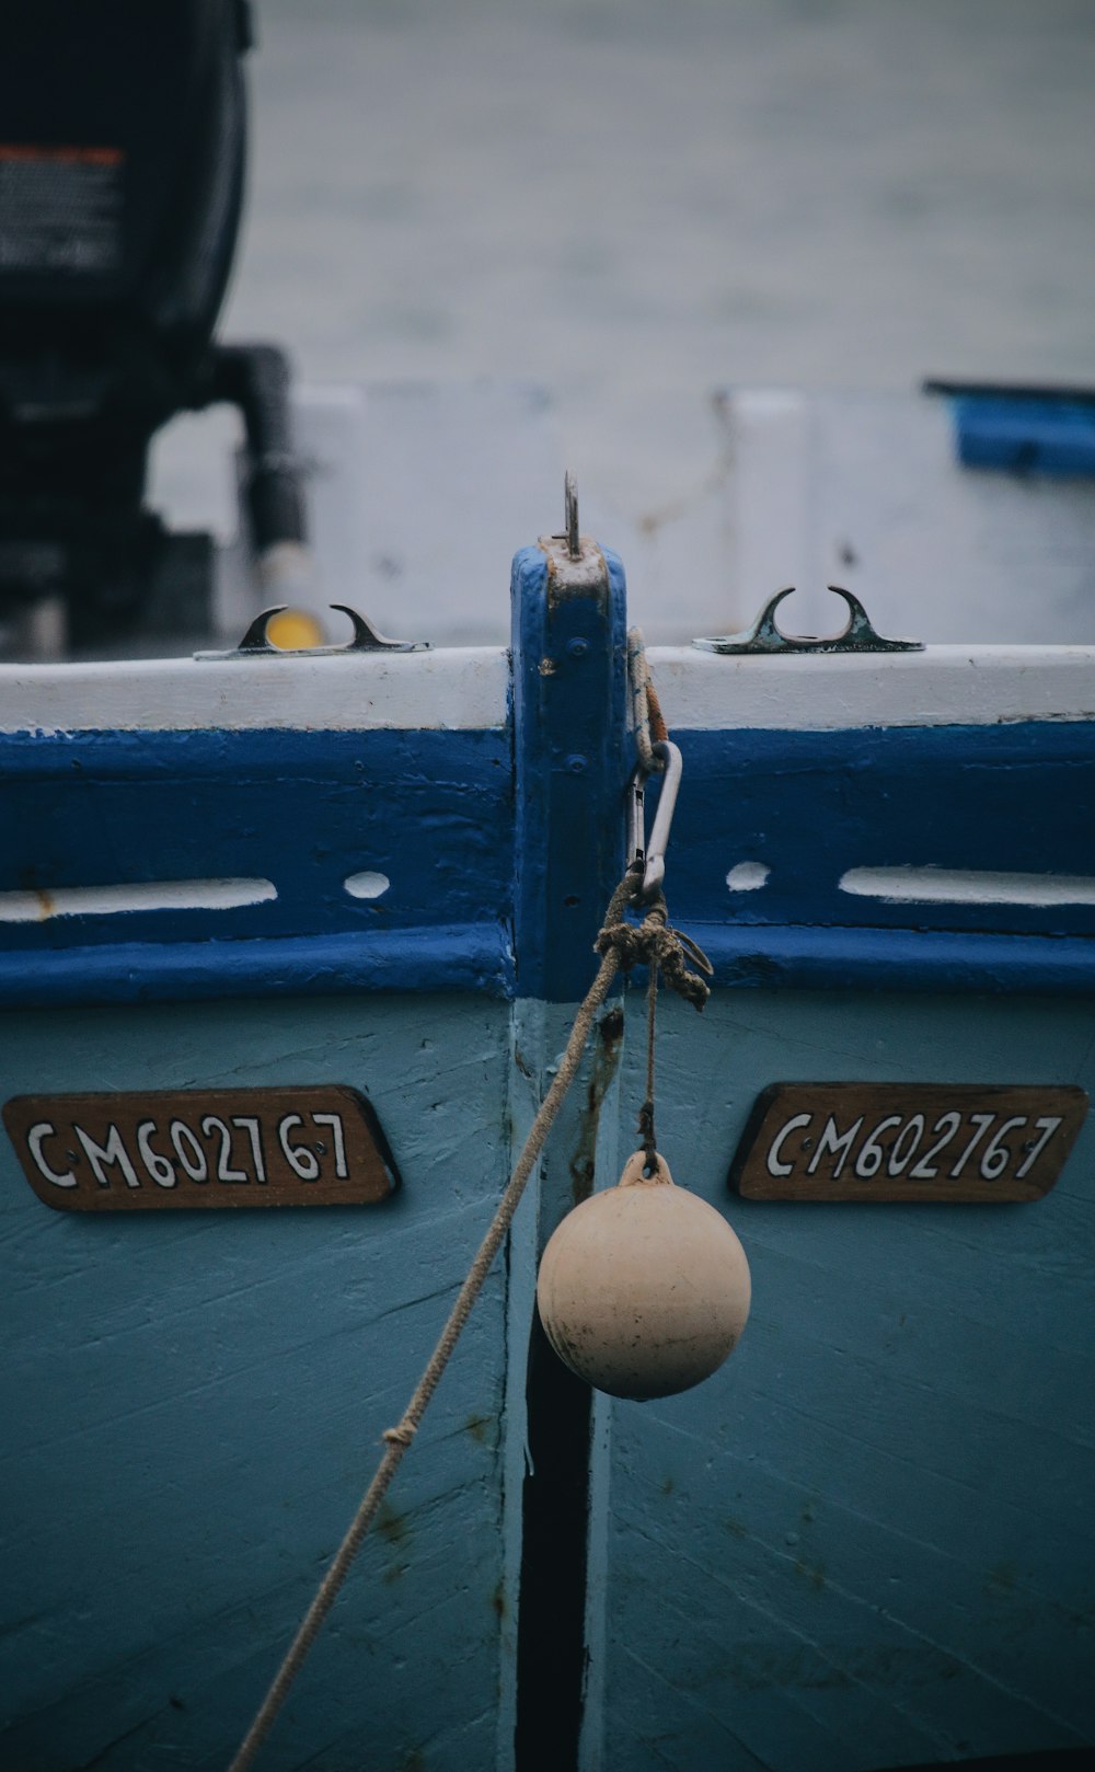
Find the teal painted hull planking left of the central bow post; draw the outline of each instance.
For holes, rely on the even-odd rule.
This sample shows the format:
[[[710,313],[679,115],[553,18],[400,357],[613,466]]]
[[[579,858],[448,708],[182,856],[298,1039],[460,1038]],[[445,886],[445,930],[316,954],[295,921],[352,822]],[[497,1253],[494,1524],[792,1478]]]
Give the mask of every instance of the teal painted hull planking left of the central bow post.
[[[509,1012],[333,999],[289,1019],[237,1003],[7,1022],[12,1093],[308,1083],[335,1067],[400,1146],[406,1184],[381,1207],[170,1221],[48,1212],[4,1154],[4,1589],[18,1625],[0,1761],[220,1765],[503,1185]],[[319,1749],[331,1767],[491,1763],[503,1382],[500,1269],[271,1765]]]

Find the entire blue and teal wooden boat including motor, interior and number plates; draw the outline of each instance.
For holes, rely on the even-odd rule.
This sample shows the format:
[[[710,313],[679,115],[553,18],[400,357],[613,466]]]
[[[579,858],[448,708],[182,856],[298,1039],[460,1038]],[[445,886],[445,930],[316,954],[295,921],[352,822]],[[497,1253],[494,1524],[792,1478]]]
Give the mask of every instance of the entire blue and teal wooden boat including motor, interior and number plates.
[[[51,16],[25,9],[5,50],[16,119]],[[659,1008],[659,1146],[737,1230],[751,1318],[714,1377],[640,1403],[574,1377],[537,1317],[548,1239],[636,1146],[629,982],[260,1765],[1079,1761],[1091,402],[737,390],[714,503],[672,546],[622,535],[634,610],[620,558],[567,525],[517,553],[507,634],[510,548],[462,491],[423,523],[422,464],[447,431],[509,532],[540,498],[532,455],[555,461],[542,404],[312,390],[291,413],[276,353],[209,342],[245,9],[129,7],[142,82],[117,43],[90,78],[99,9],[78,18],[80,92],[133,136],[73,135],[67,90],[0,147],[0,613],[12,595],[32,656],[0,664],[0,1767],[236,1751],[594,976],[634,847],[634,610],[682,757],[668,905],[712,966],[702,1017]],[[144,83],[175,30],[200,105]],[[218,154],[191,152],[195,117]],[[89,379],[58,340],[120,301],[140,190],[175,216],[145,245],[186,250],[126,285]],[[340,599],[409,641],[358,615],[349,645],[278,650],[241,549],[167,548],[149,438],[214,399],[245,411],[266,601],[291,581],[305,629]],[[299,576],[291,416],[322,468],[324,594]],[[399,510],[393,439],[418,466]],[[43,491],[44,455],[66,471]],[[103,659],[82,599],[117,618],[135,562],[168,555],[159,629],[122,647],[152,656]],[[843,641],[788,643],[771,604],[748,631],[796,579],[827,633],[827,578]],[[859,588],[884,636],[930,643],[881,641]]]

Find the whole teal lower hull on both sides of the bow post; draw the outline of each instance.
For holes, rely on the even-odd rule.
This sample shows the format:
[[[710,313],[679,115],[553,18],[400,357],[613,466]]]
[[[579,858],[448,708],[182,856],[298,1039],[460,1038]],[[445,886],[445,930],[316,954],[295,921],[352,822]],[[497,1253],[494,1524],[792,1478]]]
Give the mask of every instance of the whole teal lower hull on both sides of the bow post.
[[[514,1045],[528,1063],[530,1033],[562,1044],[565,1010],[546,1031],[528,1017],[459,996],[296,1005],[291,1022],[246,1001],[9,1017],[12,1093],[337,1072],[376,1102],[404,1187],[367,1210],[89,1219],[48,1214],[4,1154],[7,1765],[225,1760],[503,1185]],[[532,1216],[565,1210],[597,1148],[597,1184],[613,1178],[640,998],[624,1051],[599,1123],[586,1095],[560,1129],[271,1767],[494,1763]],[[730,1212],[755,1302],[705,1386],[599,1402],[590,1765],[868,1772],[1095,1731],[1090,1134],[1035,1207],[728,1201],[773,1070],[852,1067],[1091,1090],[1090,1012],[774,992],[716,998],[703,1022],[663,1010],[661,1145]]]

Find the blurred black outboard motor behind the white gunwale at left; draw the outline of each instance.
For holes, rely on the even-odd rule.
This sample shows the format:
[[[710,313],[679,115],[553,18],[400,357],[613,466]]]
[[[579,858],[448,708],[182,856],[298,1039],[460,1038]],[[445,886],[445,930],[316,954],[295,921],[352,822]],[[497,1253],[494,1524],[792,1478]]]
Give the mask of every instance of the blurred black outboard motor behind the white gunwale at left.
[[[285,360],[213,344],[250,16],[246,0],[34,0],[0,35],[0,622],[51,599],[67,643],[94,647],[140,631],[163,583],[172,537],[144,491],[175,413],[237,404],[255,549],[303,540]]]

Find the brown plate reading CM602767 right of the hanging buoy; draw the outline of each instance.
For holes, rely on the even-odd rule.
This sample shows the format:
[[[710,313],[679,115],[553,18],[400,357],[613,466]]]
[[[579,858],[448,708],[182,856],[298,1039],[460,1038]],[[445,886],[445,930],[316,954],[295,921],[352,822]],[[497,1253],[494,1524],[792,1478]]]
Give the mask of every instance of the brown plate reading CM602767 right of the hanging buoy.
[[[773,1083],[730,1184],[748,1200],[1040,1200],[1086,1113],[1072,1084]]]

